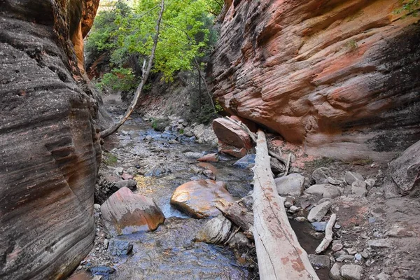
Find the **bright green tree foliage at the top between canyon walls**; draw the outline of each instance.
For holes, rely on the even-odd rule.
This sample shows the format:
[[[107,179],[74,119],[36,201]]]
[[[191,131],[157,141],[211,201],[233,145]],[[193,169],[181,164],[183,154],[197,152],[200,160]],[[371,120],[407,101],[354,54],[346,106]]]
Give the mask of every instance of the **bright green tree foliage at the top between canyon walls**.
[[[94,55],[109,52],[111,67],[116,67],[113,73],[104,75],[99,83],[102,88],[134,88],[132,74],[141,73],[134,69],[127,72],[128,57],[137,57],[141,67],[151,54],[159,5],[160,0],[137,0],[130,8],[119,0],[112,10],[97,15],[86,50]],[[214,19],[222,7],[221,0],[166,0],[153,72],[161,72],[171,81],[174,73],[192,70],[195,59],[201,62],[201,57],[209,55],[217,40]]]

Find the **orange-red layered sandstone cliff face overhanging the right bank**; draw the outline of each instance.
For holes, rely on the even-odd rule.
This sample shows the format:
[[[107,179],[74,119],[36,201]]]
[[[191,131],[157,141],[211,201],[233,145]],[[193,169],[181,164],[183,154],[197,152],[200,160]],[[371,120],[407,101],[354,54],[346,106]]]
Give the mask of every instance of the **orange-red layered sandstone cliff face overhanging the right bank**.
[[[420,139],[420,26],[398,0],[225,1],[209,66],[233,115],[333,158]]]

